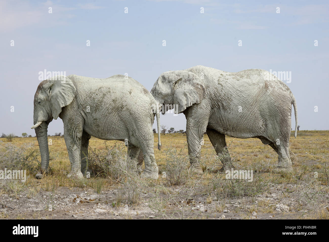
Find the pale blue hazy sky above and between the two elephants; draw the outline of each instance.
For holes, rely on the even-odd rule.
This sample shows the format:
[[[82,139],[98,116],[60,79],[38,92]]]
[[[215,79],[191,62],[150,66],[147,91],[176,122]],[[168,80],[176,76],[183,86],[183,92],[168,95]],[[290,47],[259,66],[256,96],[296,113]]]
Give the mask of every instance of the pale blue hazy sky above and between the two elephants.
[[[162,72],[195,65],[291,71],[301,129],[329,129],[328,10],[327,1],[2,0],[0,134],[35,135],[33,97],[44,69],[98,78],[128,73],[151,90]],[[186,129],[182,114],[160,118]],[[48,134],[55,132],[63,133],[61,119],[49,124]]]

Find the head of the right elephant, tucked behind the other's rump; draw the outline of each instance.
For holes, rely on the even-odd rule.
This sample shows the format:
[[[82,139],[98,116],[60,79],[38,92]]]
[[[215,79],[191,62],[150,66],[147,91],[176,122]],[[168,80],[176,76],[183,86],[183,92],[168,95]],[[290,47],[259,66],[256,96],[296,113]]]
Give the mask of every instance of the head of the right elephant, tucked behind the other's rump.
[[[176,114],[183,112],[193,103],[199,103],[206,94],[203,80],[196,74],[185,71],[167,71],[162,73],[154,83],[151,94],[162,106],[162,113],[166,109],[174,108]]]

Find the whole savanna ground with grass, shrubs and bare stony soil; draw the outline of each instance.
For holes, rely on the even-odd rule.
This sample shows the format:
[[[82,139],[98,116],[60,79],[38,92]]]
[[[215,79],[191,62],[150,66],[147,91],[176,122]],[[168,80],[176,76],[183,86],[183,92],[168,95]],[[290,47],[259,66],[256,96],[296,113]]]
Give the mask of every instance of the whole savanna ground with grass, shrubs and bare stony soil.
[[[89,143],[90,178],[67,178],[63,137],[52,139],[50,171],[34,178],[40,155],[36,138],[0,139],[0,170],[25,169],[25,182],[0,180],[3,219],[328,219],[329,131],[291,133],[297,155],[293,173],[272,173],[275,151],[259,139],[226,137],[236,169],[253,170],[253,181],[225,179],[208,136],[201,150],[203,175],[191,174],[185,134],[161,135],[155,158],[158,180],[139,176],[123,142]]]

